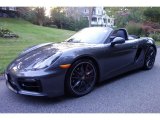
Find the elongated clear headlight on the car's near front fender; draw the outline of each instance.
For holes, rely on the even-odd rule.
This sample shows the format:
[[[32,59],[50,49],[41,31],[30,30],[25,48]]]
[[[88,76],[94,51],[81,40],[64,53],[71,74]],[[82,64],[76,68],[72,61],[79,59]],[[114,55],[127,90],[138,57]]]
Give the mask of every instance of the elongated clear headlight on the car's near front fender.
[[[58,52],[58,53],[54,54],[53,56],[45,59],[44,61],[40,61],[40,62],[36,63],[33,66],[33,69],[35,69],[35,70],[44,69],[44,68],[50,66],[53,62],[55,62],[61,56],[61,54],[62,53]]]

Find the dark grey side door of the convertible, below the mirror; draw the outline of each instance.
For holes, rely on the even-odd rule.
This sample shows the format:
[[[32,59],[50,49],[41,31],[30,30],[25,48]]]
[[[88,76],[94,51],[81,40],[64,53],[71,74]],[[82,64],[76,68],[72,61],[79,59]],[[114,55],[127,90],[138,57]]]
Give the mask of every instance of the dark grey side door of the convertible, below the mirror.
[[[125,31],[122,30],[122,32],[126,34]],[[104,48],[103,75],[107,78],[127,71],[133,65],[137,51],[137,41],[127,40],[127,37],[123,35],[115,37],[123,37],[126,40],[114,46],[108,43],[109,45]]]

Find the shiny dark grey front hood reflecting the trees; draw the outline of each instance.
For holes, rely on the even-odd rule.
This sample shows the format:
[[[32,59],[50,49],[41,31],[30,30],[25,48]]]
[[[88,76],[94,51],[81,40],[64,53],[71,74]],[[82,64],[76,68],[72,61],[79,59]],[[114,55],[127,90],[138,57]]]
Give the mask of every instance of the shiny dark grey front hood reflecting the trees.
[[[41,61],[43,62],[49,57],[56,55],[56,53],[85,46],[93,45],[68,42],[37,45],[23,51],[22,54],[20,54],[20,56],[9,65],[9,69],[11,70],[16,68],[16,70],[29,70],[32,69],[36,63],[40,63]]]

